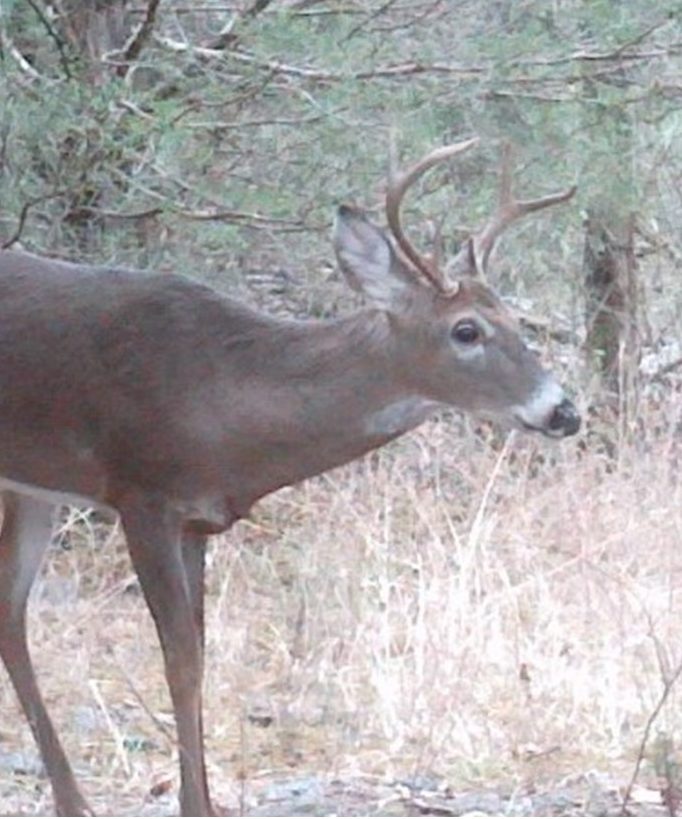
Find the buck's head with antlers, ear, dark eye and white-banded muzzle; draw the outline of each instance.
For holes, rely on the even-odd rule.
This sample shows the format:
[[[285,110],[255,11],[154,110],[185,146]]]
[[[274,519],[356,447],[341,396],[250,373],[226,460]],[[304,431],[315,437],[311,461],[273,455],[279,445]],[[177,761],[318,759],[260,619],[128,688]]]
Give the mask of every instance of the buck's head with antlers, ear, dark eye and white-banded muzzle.
[[[506,227],[527,213],[566,201],[575,188],[540,199],[515,199],[505,151],[498,208],[450,263],[455,278],[418,253],[401,226],[400,205],[412,184],[476,141],[439,148],[391,180],[386,194],[390,233],[361,211],[341,207],[334,239],[339,264],[350,285],[387,314],[415,394],[524,430],[557,438],[572,435],[580,426],[575,407],[526,347],[517,318],[485,276],[493,246]]]

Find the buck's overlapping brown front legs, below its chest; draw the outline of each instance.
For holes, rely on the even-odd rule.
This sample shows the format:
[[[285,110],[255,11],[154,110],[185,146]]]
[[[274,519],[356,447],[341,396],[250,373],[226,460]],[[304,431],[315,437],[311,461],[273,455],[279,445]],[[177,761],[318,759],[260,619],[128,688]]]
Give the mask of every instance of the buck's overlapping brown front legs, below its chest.
[[[184,816],[210,816],[201,734],[203,652],[196,619],[196,587],[203,572],[192,557],[186,569],[181,521],[163,499],[130,493],[118,508],[163,650],[180,752],[180,809]]]

